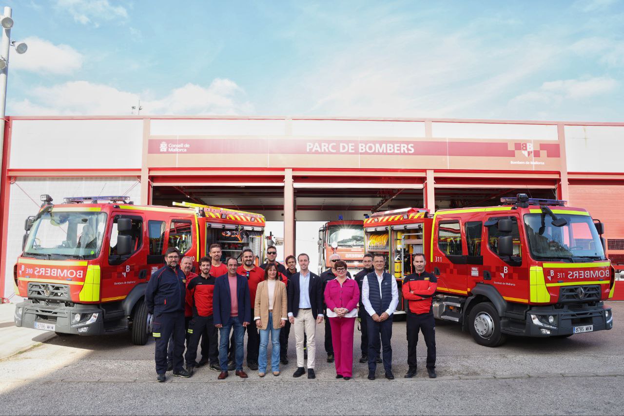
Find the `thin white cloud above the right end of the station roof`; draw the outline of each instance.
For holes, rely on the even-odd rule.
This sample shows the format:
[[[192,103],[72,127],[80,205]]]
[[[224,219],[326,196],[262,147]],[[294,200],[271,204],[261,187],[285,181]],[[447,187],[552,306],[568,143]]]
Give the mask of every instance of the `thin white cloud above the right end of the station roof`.
[[[544,82],[536,91],[525,92],[510,101],[510,104],[527,106],[530,104],[558,105],[563,101],[584,100],[607,94],[619,82],[611,77],[593,77],[585,79],[563,79]]]

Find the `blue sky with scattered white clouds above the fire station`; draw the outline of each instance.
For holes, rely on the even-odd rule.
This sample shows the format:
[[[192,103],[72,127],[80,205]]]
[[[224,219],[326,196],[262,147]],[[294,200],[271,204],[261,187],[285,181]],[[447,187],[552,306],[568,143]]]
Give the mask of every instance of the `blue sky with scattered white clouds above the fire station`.
[[[5,4],[9,115],[624,121],[622,0]]]

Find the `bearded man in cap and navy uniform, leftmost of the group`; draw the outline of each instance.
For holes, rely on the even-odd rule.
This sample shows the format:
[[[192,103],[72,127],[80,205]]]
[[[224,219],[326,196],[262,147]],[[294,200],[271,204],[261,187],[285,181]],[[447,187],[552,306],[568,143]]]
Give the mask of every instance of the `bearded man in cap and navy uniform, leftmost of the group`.
[[[145,305],[154,314],[152,330],[156,341],[155,360],[159,382],[165,381],[167,372],[167,344],[173,337],[173,375],[190,377],[184,369],[185,324],[184,306],[187,292],[186,276],[178,261],[180,252],[169,247],[165,252],[165,265],[156,270],[145,288]]]

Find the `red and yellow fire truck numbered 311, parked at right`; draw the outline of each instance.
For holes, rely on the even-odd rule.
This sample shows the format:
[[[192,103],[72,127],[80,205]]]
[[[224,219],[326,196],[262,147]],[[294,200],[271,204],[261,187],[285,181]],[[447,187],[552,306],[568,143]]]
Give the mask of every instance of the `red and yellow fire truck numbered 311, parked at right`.
[[[602,222],[565,201],[518,194],[501,202],[378,212],[364,220],[366,250],[388,257],[399,287],[423,253],[438,279],[436,319],[458,322],[481,345],[612,329],[603,301],[613,297],[615,276]]]

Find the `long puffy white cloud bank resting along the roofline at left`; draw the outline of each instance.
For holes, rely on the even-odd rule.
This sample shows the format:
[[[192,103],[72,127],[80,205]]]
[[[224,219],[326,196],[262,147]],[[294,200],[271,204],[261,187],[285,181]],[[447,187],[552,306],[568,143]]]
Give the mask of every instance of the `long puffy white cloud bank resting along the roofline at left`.
[[[120,91],[87,81],[72,81],[52,87],[36,87],[22,101],[9,101],[12,115],[129,115],[149,92]],[[215,79],[208,87],[186,84],[160,99],[141,99],[142,114],[243,114],[253,112],[245,92],[229,79]]]

